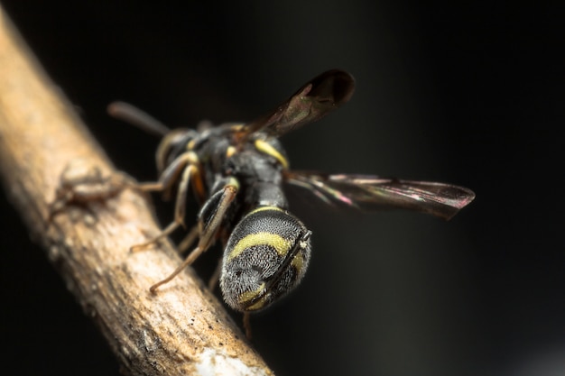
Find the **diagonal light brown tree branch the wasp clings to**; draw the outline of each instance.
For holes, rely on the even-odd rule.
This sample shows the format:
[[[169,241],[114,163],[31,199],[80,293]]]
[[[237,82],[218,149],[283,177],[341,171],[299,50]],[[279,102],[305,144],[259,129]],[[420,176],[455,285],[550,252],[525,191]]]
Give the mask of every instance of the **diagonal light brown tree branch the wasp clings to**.
[[[272,374],[190,268],[156,295],[149,292],[179,256],[165,242],[158,250],[129,252],[159,232],[146,200],[120,184],[2,9],[0,173],[33,239],[125,373]]]

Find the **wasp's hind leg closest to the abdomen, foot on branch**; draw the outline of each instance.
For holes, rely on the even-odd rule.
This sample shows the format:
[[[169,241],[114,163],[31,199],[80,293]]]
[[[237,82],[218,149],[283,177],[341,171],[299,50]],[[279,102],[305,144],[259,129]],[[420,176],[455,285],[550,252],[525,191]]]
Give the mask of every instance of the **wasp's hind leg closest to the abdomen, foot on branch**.
[[[155,292],[159,289],[160,286],[164,285],[165,283],[170,282],[173,278],[177,276],[181,271],[184,270],[187,266],[189,266],[192,262],[199,258],[199,255],[202,252],[208,250],[209,246],[214,243],[216,234],[218,234],[218,230],[220,225],[222,224],[222,220],[226,215],[227,209],[229,208],[230,204],[234,200],[237,194],[237,185],[236,184],[227,184],[215,193],[212,197],[208,199],[207,204],[204,205],[203,211],[200,212],[199,218],[199,243],[194,248],[187,258],[181,263],[181,265],[175,269],[169,275],[169,277],[155,283],[149,290],[151,292]],[[204,217],[207,213],[206,209],[209,209],[209,205],[215,205],[214,212],[208,217]]]

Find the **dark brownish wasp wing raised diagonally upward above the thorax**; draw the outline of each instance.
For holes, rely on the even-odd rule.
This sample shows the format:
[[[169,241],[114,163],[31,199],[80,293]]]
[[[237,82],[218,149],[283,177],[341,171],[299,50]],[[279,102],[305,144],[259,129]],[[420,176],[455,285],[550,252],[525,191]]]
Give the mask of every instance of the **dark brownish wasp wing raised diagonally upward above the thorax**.
[[[343,70],[333,69],[311,79],[271,113],[246,124],[244,137],[258,131],[279,137],[304,124],[320,120],[345,104],[353,95],[354,78]]]

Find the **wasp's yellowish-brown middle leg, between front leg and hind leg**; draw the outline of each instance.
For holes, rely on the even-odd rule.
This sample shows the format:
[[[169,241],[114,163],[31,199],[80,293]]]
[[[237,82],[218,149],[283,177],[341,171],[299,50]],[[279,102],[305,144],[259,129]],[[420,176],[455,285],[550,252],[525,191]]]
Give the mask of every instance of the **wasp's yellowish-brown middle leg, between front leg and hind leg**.
[[[181,159],[181,158],[179,158],[179,159]],[[186,163],[186,161],[185,161],[185,163]],[[166,175],[165,178],[170,179],[171,176],[172,176],[171,174],[173,174],[176,170],[178,170],[179,166],[182,166],[182,165],[177,165],[174,170],[170,170],[170,171],[168,171],[169,169],[165,170],[163,172],[162,176],[164,176],[165,173],[166,173],[167,175]],[[148,245],[151,245],[153,243],[158,242],[159,240],[161,240],[165,236],[169,236],[179,226],[181,226],[181,225],[184,226],[186,197],[187,197],[187,193],[189,191],[190,178],[192,176],[198,174],[198,173],[199,173],[199,170],[194,164],[189,164],[187,167],[184,168],[184,171],[182,172],[181,183],[179,184],[179,189],[177,191],[177,200],[176,200],[176,203],[175,203],[175,210],[174,210],[174,220],[171,222],[170,225],[168,225],[167,227],[165,227],[164,230],[162,230],[161,234],[158,234],[153,239],[151,239],[151,240],[149,240],[145,243],[133,245],[130,248],[130,250],[132,252],[141,251],[145,247],[147,247]],[[160,180],[157,183],[148,183],[148,184],[153,184],[152,187],[166,188],[167,184],[170,184],[168,182],[168,180],[166,180],[166,179],[163,180],[163,181]],[[147,185],[145,185],[145,187],[147,187]]]

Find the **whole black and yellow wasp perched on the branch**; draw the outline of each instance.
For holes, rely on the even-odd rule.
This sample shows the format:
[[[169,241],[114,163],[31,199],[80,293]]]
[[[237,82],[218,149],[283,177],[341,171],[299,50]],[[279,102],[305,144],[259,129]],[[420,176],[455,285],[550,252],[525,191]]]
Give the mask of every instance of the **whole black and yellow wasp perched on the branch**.
[[[342,70],[313,78],[273,112],[249,124],[201,124],[198,130],[167,127],[116,102],[109,112],[163,136],[156,153],[160,178],[145,190],[177,189],[174,221],[154,243],[183,225],[189,191],[201,203],[198,224],[180,248],[197,245],[155,291],[218,239],[224,244],[219,284],[229,307],[244,313],[268,307],[301,281],[310,261],[311,232],[289,212],[284,184],[305,188],[326,203],[361,210],[399,207],[449,219],[475,194],[450,184],[329,175],[290,170],[278,137],[327,115],[353,95],[354,79]]]

